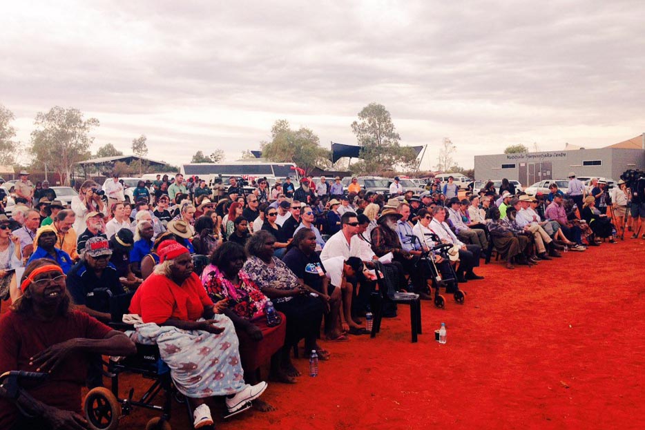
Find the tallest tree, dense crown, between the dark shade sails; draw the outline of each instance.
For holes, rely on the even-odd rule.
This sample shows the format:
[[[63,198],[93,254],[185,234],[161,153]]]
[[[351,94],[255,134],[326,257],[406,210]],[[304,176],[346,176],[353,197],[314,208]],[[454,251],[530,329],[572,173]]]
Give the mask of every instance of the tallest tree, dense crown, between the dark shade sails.
[[[416,153],[409,146],[401,146],[401,136],[396,133],[392,117],[385,106],[370,103],[358,113],[358,121],[352,123],[362,162],[352,165],[352,171],[378,173],[396,164],[412,167]]]

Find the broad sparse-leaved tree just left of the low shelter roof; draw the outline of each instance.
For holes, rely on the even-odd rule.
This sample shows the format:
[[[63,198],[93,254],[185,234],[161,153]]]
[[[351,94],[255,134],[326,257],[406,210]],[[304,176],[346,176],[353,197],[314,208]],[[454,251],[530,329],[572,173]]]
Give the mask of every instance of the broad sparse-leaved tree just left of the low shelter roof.
[[[84,120],[78,109],[55,106],[47,113],[37,113],[34,125],[30,151],[35,161],[47,163],[60,175],[61,183],[68,185],[73,165],[90,158],[94,138],[89,133],[99,126],[99,120]]]

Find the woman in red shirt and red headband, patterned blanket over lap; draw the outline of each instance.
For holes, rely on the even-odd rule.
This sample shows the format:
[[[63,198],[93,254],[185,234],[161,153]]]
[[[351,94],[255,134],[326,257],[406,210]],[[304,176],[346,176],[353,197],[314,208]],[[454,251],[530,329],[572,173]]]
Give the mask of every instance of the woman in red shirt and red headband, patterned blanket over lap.
[[[226,404],[232,413],[260,397],[267,383],[251,386],[242,380],[233,322],[218,315],[227,306],[226,300],[213,304],[193,272],[188,248],[166,240],[157,248],[157,254],[160,264],[137,289],[130,311],[144,322],[144,326],[137,326],[137,333],[151,330],[154,325],[150,323],[161,328],[154,338],[162,359],[171,368],[175,387],[191,399],[193,425],[199,429],[213,424],[206,398],[227,395]],[[180,331],[169,331],[166,326]],[[203,332],[215,337],[206,337]]]

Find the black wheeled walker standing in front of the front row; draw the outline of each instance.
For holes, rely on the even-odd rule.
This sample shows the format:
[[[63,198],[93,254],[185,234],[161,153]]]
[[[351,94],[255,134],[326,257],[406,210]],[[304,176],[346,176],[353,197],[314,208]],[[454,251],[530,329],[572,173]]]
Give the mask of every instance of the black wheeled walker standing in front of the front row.
[[[421,268],[421,270],[425,270],[425,273],[432,281],[432,289],[434,289],[434,306],[439,309],[445,308],[445,297],[441,295],[442,288],[445,289],[446,293],[452,293],[452,297],[457,304],[463,304],[463,302],[465,301],[465,291],[459,289],[459,282],[457,282],[457,275],[452,264],[446,265],[450,267],[450,271],[449,273],[447,273],[447,277],[443,277],[441,270],[439,270],[439,267],[436,266],[436,262],[434,262],[434,258],[432,258],[432,251],[434,251],[435,253],[441,255],[441,257],[443,257],[445,260],[450,261],[447,250],[448,248],[452,248],[452,244],[441,243],[439,237],[434,235],[434,233],[425,234],[432,236],[432,240],[434,240],[434,242],[436,242],[437,244],[428,251],[421,251],[421,257],[416,263],[416,266],[418,268],[421,268],[419,266],[423,265],[423,268]],[[418,237],[411,235],[410,239],[413,243],[415,240],[419,242],[419,246],[423,248]]]

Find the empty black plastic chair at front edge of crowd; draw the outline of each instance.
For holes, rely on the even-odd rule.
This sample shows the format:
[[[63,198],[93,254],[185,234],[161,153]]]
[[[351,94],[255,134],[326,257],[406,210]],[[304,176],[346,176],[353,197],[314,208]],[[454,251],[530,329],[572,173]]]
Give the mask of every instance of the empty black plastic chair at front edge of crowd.
[[[400,293],[394,286],[394,281],[387,275],[387,269],[380,262],[374,263],[376,272],[376,284],[378,291],[370,297],[370,307],[374,315],[372,323],[371,338],[376,338],[376,333],[381,331],[381,320],[383,320],[383,305],[387,302],[396,304],[407,304],[410,306],[410,332],[412,343],[418,341],[421,332],[421,300],[415,293]]]

